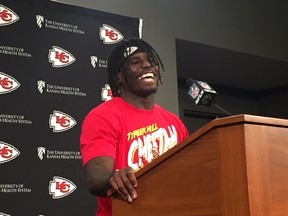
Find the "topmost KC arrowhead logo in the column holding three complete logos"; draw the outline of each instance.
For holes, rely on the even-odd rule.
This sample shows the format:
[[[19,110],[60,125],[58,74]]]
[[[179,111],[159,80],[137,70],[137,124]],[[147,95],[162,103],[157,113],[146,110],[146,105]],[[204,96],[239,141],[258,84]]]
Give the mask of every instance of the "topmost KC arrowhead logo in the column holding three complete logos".
[[[58,46],[53,46],[49,50],[48,60],[53,67],[66,67],[76,61],[76,58],[67,50]]]

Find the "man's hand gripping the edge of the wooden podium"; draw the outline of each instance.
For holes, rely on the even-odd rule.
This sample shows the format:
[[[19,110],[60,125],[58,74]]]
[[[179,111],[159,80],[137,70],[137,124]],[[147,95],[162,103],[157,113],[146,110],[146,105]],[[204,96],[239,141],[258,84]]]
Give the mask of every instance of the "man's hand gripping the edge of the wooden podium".
[[[120,194],[128,203],[133,202],[137,198],[135,188],[138,185],[133,168],[127,166],[116,171],[108,181],[113,190]]]

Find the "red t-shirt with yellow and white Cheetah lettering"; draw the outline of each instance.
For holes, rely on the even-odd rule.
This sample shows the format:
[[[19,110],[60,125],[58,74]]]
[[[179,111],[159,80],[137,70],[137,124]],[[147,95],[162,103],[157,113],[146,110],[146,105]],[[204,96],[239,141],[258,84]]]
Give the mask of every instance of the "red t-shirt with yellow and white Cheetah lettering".
[[[95,157],[110,156],[115,170],[131,166],[137,171],[187,136],[182,121],[159,105],[142,110],[114,97],[84,119],[80,149],[84,165]],[[97,201],[97,216],[112,215],[110,198]]]

